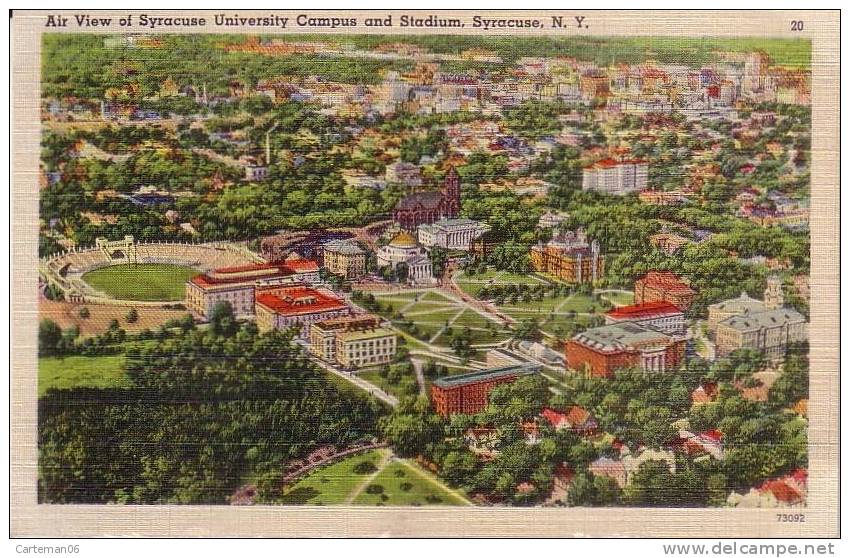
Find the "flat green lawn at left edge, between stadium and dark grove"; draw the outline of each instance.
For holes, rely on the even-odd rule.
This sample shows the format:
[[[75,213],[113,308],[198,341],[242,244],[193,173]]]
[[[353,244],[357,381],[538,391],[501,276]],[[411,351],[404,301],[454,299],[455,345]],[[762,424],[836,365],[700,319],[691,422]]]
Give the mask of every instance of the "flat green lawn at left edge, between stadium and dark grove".
[[[41,357],[38,395],[48,389],[128,387],[123,355]]]

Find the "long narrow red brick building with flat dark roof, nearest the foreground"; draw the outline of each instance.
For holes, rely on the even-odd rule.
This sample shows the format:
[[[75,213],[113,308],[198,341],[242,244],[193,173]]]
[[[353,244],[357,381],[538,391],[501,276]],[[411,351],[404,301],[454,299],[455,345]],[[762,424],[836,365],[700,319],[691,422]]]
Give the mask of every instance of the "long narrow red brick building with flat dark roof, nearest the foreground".
[[[494,387],[539,371],[539,365],[519,364],[437,378],[431,386],[431,403],[444,417],[460,413],[472,415],[487,407]]]

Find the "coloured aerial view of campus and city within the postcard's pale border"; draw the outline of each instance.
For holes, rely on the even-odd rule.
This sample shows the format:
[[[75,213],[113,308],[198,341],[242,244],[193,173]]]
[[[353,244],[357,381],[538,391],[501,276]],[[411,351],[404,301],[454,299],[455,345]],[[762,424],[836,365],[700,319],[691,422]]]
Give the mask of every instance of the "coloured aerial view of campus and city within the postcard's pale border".
[[[40,501],[805,506],[810,46],[44,35]]]

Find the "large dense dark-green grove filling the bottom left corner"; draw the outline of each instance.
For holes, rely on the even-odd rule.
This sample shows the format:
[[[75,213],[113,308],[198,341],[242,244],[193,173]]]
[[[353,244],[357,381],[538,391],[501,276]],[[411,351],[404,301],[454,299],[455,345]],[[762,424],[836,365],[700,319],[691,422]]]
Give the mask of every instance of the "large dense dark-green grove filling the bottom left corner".
[[[41,502],[221,504],[248,474],[374,433],[378,403],[340,391],[290,335],[226,314],[129,347],[129,389],[39,400]]]

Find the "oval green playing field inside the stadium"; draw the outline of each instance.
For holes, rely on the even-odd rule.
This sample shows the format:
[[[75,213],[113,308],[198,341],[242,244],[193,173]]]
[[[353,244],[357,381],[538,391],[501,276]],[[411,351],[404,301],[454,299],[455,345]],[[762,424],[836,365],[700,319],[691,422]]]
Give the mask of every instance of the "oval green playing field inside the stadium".
[[[196,269],[171,264],[122,264],[83,275],[92,288],[122,300],[183,300],[186,281]]]

